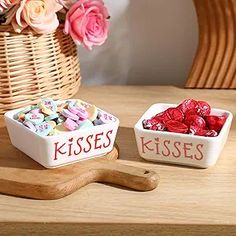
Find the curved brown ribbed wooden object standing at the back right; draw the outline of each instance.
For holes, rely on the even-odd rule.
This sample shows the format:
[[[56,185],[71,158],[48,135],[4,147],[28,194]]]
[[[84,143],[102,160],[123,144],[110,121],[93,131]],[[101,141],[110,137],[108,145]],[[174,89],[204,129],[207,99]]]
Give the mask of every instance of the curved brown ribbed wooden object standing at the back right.
[[[194,0],[199,45],[187,88],[236,89],[236,0]]]

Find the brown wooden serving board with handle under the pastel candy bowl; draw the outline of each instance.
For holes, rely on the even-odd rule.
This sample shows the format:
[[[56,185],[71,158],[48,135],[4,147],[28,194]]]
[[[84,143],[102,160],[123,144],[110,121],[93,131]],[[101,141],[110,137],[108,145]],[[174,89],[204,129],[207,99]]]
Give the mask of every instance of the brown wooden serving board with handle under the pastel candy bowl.
[[[103,157],[46,169],[11,145],[6,128],[0,128],[0,193],[34,199],[59,199],[92,183],[104,182],[139,191],[157,187],[150,170],[115,162],[118,146]]]

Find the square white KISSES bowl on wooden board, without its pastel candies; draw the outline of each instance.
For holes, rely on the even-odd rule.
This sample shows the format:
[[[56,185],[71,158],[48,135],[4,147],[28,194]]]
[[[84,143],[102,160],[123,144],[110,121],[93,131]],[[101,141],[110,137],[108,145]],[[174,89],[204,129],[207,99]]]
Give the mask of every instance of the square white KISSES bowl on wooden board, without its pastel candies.
[[[11,143],[46,168],[55,168],[102,156],[113,149],[119,119],[108,112],[105,113],[113,118],[111,123],[43,137],[13,118],[21,110],[24,108],[5,113]]]

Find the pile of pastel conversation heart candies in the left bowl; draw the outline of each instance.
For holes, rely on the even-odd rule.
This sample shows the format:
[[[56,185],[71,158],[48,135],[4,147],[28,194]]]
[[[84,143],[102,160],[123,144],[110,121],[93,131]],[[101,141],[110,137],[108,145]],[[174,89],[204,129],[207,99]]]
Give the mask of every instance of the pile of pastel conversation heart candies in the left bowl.
[[[81,100],[67,100],[57,105],[47,98],[20,111],[14,119],[41,136],[52,136],[107,124],[115,118]]]

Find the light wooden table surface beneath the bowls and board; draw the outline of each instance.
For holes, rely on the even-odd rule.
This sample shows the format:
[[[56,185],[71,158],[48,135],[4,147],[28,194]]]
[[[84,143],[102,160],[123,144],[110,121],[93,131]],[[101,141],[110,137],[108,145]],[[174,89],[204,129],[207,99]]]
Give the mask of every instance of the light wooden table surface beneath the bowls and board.
[[[195,98],[236,115],[235,90],[102,86],[83,87],[76,97],[120,118],[119,162],[155,170],[160,186],[144,193],[96,183],[54,201],[0,195],[0,234],[236,235],[235,120],[219,161],[209,169],[146,162],[133,131],[142,113],[158,102]]]

